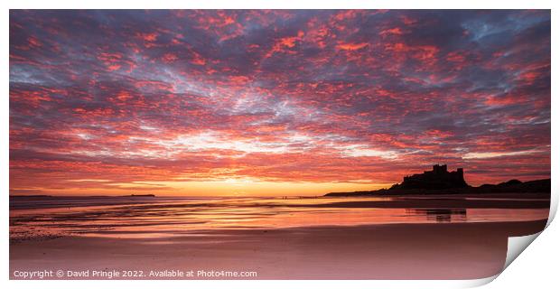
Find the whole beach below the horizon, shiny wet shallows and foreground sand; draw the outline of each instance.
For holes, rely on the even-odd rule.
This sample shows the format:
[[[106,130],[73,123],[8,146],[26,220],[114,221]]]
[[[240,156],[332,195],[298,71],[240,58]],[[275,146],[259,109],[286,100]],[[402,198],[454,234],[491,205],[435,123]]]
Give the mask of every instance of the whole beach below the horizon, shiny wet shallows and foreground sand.
[[[142,272],[115,279],[474,279],[500,272],[508,237],[545,228],[546,198],[500,200],[502,209],[492,208],[497,200],[463,199],[454,200],[463,209],[422,209],[434,201],[414,197],[393,200],[400,209],[375,198],[35,209],[47,210],[48,220],[33,210],[13,210],[11,278],[18,278],[16,271],[63,270],[64,279],[108,278],[92,271]],[[32,230],[25,226],[47,233],[22,238],[17,228]],[[173,270],[194,275],[165,276]],[[199,271],[254,275],[209,277]]]

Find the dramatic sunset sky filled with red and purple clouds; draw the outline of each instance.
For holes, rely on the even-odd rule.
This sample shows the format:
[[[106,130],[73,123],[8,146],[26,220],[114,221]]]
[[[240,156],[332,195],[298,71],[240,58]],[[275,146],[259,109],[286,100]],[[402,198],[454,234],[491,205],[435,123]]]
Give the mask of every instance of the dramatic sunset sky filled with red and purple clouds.
[[[10,194],[550,177],[550,11],[10,11]]]

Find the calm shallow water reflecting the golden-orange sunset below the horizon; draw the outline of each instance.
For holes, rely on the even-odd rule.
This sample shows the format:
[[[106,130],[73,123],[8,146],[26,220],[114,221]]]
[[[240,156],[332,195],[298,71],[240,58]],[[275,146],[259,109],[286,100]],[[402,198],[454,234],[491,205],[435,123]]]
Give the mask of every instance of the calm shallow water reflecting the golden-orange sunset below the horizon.
[[[219,228],[290,228],[363,224],[499,222],[546,219],[548,209],[349,208],[344,203],[406,198],[16,198],[10,238],[79,234],[161,238]],[[458,201],[466,199],[457,199]],[[489,200],[489,199],[484,199]],[[508,199],[496,199],[508,201]],[[425,206],[419,206],[425,208]]]

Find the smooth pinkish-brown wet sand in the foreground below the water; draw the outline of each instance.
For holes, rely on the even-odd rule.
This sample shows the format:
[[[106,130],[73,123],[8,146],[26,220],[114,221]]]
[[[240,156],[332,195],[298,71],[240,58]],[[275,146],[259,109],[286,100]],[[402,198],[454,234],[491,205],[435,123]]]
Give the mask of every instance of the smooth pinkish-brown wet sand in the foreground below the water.
[[[114,279],[474,279],[501,271],[508,237],[537,233],[545,224],[546,219],[213,229],[173,238],[29,240],[10,245],[10,278],[22,279],[14,274],[23,271],[63,270],[62,278],[43,278],[107,279],[93,276],[93,271],[116,270],[121,275]],[[88,273],[69,278],[68,270]],[[122,270],[142,275],[123,276]],[[187,274],[162,277],[163,270]],[[197,275],[201,270],[252,271],[257,276]]]

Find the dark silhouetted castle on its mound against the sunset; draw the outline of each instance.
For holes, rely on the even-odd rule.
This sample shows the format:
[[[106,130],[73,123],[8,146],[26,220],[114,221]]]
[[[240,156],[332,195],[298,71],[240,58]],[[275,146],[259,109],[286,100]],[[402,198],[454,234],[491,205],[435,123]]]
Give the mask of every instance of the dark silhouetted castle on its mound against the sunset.
[[[469,185],[462,176],[462,168],[447,172],[447,164],[434,164],[432,171],[406,176],[403,182],[394,185],[391,189],[441,190],[466,187]]]

